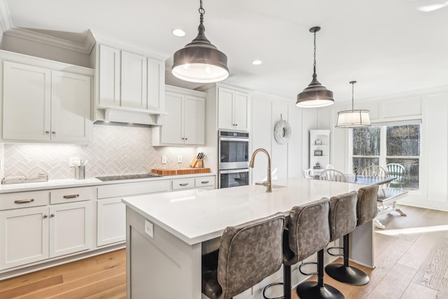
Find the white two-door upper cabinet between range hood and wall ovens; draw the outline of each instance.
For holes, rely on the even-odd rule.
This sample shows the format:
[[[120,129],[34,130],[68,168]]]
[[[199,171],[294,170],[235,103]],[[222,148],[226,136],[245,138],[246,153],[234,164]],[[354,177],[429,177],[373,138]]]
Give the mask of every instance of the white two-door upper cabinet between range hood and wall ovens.
[[[153,146],[205,143],[205,93],[168,86],[162,127],[153,127]]]

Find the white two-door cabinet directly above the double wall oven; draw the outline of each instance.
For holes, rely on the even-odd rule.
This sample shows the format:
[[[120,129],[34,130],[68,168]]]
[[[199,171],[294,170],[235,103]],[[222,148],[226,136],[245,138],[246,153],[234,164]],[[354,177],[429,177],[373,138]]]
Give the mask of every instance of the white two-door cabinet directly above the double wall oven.
[[[218,88],[218,128],[248,131],[250,95],[228,88]]]

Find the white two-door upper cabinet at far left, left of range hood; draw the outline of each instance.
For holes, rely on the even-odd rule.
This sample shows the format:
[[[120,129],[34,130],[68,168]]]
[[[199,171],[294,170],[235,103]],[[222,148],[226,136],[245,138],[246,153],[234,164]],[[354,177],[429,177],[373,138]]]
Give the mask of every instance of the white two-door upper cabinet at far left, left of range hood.
[[[92,76],[41,67],[45,61],[38,62],[39,66],[3,61],[3,140],[90,141]],[[65,68],[77,69],[58,67]]]

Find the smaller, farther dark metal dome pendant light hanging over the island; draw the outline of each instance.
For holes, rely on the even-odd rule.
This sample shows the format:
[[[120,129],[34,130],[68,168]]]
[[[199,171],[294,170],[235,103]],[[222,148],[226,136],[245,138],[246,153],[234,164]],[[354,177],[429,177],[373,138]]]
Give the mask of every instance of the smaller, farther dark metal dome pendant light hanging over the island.
[[[314,73],[313,80],[309,83],[300,94],[297,95],[297,102],[295,105],[301,108],[316,108],[330,106],[335,102],[333,99],[333,92],[321,85],[317,81],[316,74],[316,32],[321,30],[321,27],[312,27],[309,32],[314,33]]]

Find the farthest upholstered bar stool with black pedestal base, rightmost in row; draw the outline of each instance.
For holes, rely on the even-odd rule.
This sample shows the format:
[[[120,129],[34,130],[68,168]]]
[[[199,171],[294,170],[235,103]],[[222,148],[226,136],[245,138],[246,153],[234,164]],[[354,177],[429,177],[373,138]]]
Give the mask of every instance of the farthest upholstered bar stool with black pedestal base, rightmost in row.
[[[377,216],[377,194],[377,185],[363,187],[358,190],[358,200],[356,201],[356,226],[362,225],[367,221],[372,221],[373,218]],[[337,237],[337,235],[335,237]],[[354,286],[362,286],[363,284],[367,284],[369,282],[369,277],[365,274],[365,272],[349,265],[349,242],[349,235],[344,235],[344,246],[342,247],[344,264],[333,263],[327,265],[325,267],[325,272],[327,272],[328,276],[337,281]]]

